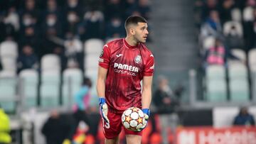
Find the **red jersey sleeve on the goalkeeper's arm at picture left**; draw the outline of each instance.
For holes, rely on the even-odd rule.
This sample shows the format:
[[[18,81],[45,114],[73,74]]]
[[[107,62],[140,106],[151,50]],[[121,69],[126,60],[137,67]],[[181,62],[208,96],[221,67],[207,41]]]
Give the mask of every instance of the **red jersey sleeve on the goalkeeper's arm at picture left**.
[[[110,48],[108,45],[104,45],[102,52],[100,52],[99,65],[105,69],[110,66]]]

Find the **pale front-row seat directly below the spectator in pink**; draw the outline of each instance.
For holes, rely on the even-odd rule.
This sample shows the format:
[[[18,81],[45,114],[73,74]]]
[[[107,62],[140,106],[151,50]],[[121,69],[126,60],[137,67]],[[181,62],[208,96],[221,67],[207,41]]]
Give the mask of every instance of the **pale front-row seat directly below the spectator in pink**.
[[[225,68],[222,65],[209,65],[206,69],[206,99],[208,101],[225,101],[227,86]]]

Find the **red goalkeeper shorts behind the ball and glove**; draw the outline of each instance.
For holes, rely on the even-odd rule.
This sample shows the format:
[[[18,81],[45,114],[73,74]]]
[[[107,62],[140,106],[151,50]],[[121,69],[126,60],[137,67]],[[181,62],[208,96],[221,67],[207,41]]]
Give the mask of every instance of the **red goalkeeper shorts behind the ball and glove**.
[[[105,138],[107,139],[113,139],[116,138],[119,133],[124,129],[125,135],[141,135],[142,131],[136,132],[136,131],[129,131],[127,128],[124,128],[122,125],[122,113],[113,113],[111,111],[107,112],[107,118],[109,118],[110,123],[105,123],[102,119],[103,123],[103,133],[105,135]]]

